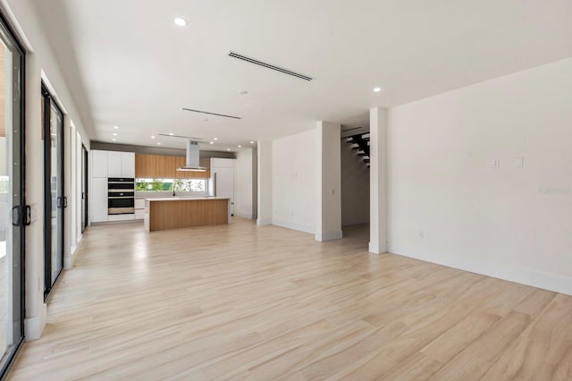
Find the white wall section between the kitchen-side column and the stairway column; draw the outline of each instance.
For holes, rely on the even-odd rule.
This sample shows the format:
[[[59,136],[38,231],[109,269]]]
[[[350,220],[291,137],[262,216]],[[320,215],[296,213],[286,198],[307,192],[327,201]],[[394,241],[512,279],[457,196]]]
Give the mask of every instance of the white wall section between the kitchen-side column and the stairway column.
[[[316,144],[315,130],[273,140],[272,224],[315,233]]]

